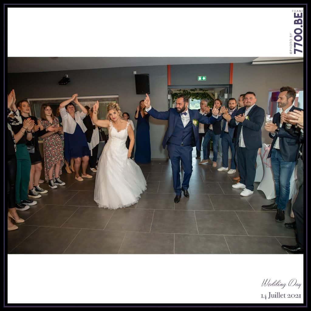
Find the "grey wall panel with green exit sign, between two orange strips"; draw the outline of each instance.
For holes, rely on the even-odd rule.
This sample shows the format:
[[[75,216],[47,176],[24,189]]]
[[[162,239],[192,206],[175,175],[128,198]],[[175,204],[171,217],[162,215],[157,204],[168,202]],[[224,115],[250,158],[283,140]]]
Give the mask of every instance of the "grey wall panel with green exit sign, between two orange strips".
[[[171,65],[171,85],[204,86],[229,84],[230,64]],[[206,76],[206,81],[197,81]]]

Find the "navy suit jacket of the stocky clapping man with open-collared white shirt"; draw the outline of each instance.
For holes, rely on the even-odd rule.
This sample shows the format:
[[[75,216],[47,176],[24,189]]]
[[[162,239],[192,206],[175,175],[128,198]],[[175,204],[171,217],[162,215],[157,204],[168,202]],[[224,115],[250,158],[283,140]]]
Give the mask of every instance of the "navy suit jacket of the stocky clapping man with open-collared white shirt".
[[[246,107],[240,108],[236,115],[245,114]],[[235,122],[235,118],[232,118],[229,122],[231,127],[237,127],[237,134],[234,144],[239,145],[239,137],[243,126],[243,139],[246,149],[254,150],[262,147],[261,140],[261,127],[265,120],[265,110],[258,107],[256,104],[247,115],[249,120],[244,119],[238,125]]]

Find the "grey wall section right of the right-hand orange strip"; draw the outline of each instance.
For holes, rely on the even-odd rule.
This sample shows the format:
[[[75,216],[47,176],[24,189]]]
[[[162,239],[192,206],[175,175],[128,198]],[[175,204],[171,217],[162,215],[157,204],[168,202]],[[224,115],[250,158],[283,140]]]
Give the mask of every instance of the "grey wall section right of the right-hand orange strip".
[[[280,89],[282,86],[303,88],[303,75],[303,63],[277,65],[234,63],[232,95],[238,99],[240,94],[253,91],[257,98],[256,104],[267,113],[269,90]],[[270,144],[271,141],[268,132],[262,127],[262,143]]]

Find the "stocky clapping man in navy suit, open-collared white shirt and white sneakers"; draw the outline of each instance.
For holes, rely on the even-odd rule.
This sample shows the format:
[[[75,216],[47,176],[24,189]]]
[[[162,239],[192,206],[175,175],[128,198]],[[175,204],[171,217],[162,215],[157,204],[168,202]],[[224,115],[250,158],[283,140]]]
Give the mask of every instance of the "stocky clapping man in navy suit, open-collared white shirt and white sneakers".
[[[238,153],[239,173],[241,180],[232,188],[244,189],[240,195],[247,197],[254,193],[256,175],[256,158],[258,148],[262,147],[261,127],[265,120],[264,109],[258,107],[254,92],[246,92],[244,107],[240,108],[229,122],[231,127],[237,127],[235,150]]]

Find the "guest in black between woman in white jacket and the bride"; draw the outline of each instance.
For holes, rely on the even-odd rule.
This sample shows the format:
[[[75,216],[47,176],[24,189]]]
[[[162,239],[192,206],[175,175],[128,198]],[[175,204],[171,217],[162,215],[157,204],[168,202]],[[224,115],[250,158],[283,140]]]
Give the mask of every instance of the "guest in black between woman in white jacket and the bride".
[[[98,144],[99,144],[99,132],[98,125],[95,125],[92,121],[93,117],[93,107],[90,109],[90,114],[88,114],[84,119],[83,123],[86,126],[87,130],[85,132],[87,144],[89,145],[91,151],[91,157],[89,160],[90,169],[92,172],[97,172],[96,162],[97,162],[97,153],[98,153]]]

